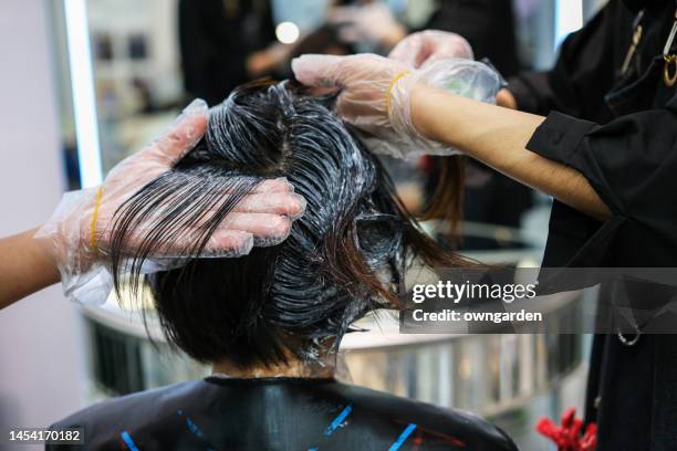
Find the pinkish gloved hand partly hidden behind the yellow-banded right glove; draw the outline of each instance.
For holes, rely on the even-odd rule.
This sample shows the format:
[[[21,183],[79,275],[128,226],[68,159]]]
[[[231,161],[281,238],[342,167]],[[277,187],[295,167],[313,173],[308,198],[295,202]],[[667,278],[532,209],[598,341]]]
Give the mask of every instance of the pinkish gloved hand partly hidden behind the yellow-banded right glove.
[[[388,57],[418,69],[449,57],[472,60],[475,56],[468,41],[459,34],[426,30],[399,41]]]

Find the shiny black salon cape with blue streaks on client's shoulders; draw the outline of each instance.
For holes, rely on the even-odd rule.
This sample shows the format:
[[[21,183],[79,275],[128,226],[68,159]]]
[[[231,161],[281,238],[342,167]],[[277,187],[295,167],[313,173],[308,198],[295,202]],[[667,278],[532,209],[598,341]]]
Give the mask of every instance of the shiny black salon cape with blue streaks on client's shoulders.
[[[517,450],[478,417],[334,379],[207,378],[106,401],[53,429],[74,427],[86,450]]]

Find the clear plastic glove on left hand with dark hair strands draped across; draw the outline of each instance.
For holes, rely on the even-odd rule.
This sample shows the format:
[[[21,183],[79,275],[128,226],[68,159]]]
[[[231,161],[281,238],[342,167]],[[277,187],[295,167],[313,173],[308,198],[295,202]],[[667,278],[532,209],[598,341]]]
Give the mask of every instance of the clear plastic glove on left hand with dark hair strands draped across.
[[[35,239],[52,241],[66,297],[82,303],[105,302],[112,287],[106,255],[116,210],[146,183],[171,169],[195,146],[207,129],[207,112],[204,101],[195,101],[165,136],[111,169],[101,187],[63,196]],[[223,198],[228,195],[220,193]],[[293,192],[285,179],[265,180],[226,217],[200,256],[239,256],[249,253],[252,245],[277,244],[289,235],[291,222],[304,209],[305,200]],[[138,233],[132,234],[132,247],[134,238],[140,239],[144,230],[162,217],[162,206],[157,211],[147,218],[147,224],[135,229]],[[156,249],[158,254],[149,255],[144,272],[181,265],[181,252],[190,248],[187,244],[163,242]]]

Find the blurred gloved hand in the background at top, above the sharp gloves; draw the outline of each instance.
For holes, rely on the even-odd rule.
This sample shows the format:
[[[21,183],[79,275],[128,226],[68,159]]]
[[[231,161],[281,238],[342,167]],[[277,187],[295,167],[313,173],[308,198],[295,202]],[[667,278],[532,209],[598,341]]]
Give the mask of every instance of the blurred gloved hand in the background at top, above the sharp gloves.
[[[338,27],[338,39],[351,44],[368,41],[383,45],[405,33],[388,7],[381,2],[334,8],[329,22]]]

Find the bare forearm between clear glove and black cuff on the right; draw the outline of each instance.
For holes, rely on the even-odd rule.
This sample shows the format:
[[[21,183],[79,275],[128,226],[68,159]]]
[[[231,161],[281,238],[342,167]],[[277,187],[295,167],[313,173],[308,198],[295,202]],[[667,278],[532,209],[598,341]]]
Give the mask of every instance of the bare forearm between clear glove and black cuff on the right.
[[[418,85],[412,95],[412,118],[431,139],[454,146],[584,213],[598,219],[610,216],[581,172],[527,150],[527,143],[544,120],[542,116]]]

